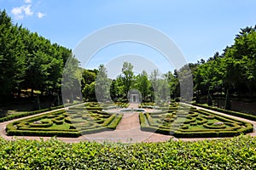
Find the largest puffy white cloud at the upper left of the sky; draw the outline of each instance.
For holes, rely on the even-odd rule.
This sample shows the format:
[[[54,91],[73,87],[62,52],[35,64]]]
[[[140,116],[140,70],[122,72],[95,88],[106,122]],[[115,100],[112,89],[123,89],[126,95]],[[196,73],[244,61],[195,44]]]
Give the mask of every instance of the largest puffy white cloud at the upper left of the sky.
[[[15,19],[21,20],[24,16],[29,16],[33,14],[31,5],[22,5],[20,7],[12,8],[12,14],[15,15]]]

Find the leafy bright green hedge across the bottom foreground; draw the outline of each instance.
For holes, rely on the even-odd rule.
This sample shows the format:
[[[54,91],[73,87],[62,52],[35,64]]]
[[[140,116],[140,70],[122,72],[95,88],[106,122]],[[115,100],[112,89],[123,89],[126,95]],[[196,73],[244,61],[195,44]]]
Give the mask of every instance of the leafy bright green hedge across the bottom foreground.
[[[0,139],[1,169],[255,169],[256,139],[66,144]]]

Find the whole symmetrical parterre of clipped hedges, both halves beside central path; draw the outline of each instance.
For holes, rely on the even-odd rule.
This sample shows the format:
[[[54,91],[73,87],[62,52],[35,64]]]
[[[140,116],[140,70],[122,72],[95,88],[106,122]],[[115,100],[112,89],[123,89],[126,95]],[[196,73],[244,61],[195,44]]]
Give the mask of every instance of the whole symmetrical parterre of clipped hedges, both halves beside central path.
[[[6,128],[9,135],[79,137],[83,134],[114,130],[125,113],[117,108],[127,104],[102,104],[88,102],[70,107],[67,111],[55,111],[11,122]],[[172,103],[155,105],[144,103],[148,111],[139,113],[141,130],[173,135],[176,138],[233,137],[253,132],[253,125],[209,111]],[[154,108],[154,109],[152,109]],[[115,109],[114,111],[108,111]]]

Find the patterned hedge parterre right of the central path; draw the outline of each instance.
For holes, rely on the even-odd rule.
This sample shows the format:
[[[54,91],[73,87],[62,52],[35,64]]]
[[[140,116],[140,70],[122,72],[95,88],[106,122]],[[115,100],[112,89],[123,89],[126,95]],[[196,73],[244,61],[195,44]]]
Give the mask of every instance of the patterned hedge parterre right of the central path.
[[[172,134],[177,138],[231,137],[253,132],[253,125],[212,112],[185,108],[146,112],[139,115],[141,129]]]

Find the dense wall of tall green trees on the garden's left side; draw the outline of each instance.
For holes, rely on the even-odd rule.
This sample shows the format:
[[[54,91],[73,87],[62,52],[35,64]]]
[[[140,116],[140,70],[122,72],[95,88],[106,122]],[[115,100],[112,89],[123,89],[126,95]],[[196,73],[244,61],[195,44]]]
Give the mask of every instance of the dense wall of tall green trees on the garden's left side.
[[[72,51],[13,25],[4,10],[0,33],[0,101],[20,98],[26,89],[31,89],[31,96],[35,90],[60,95],[63,67]]]

